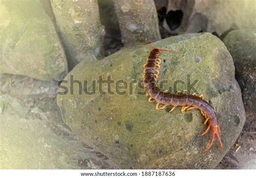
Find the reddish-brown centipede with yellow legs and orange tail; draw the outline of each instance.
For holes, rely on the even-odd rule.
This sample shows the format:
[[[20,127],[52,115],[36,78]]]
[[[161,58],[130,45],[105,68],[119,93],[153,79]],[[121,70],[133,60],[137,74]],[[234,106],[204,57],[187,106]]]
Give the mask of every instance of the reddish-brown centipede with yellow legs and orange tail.
[[[167,106],[172,106],[172,109],[169,112],[172,112],[177,106],[182,106],[181,112],[185,113],[186,111],[192,109],[199,109],[201,114],[204,116],[205,120],[203,124],[208,126],[206,130],[199,134],[199,136],[204,136],[208,131],[212,130],[212,138],[210,144],[201,151],[206,152],[212,147],[213,141],[215,138],[219,141],[219,148],[223,149],[223,144],[221,143],[220,138],[220,126],[217,120],[217,114],[214,111],[213,106],[206,100],[204,100],[203,95],[188,94],[184,91],[179,91],[176,94],[171,94],[169,91],[162,91],[157,84],[159,69],[161,64],[160,52],[173,52],[171,49],[158,49],[150,45],[139,45],[146,46],[152,49],[149,56],[147,57],[146,63],[144,64],[143,72],[143,85],[146,91],[146,95],[149,102],[156,103],[157,110],[164,110]]]

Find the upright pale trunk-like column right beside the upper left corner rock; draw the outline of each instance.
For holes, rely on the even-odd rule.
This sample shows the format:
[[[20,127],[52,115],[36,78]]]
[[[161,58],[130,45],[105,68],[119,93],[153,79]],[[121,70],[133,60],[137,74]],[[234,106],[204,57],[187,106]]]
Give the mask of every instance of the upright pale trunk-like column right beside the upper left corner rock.
[[[53,0],[51,5],[69,65],[98,57],[104,35],[98,1]]]

